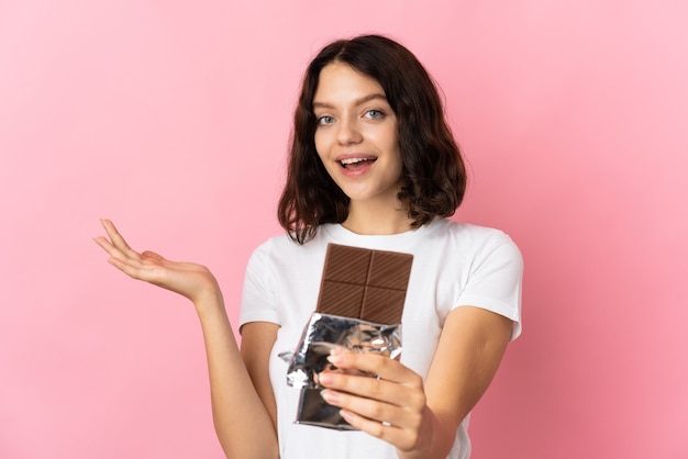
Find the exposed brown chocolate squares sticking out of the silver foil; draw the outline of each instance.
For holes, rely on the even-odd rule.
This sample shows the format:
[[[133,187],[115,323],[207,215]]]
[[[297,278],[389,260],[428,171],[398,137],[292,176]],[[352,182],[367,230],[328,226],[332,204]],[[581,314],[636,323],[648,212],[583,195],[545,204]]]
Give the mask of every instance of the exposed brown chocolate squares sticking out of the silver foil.
[[[317,312],[401,323],[412,261],[410,254],[330,244]]]

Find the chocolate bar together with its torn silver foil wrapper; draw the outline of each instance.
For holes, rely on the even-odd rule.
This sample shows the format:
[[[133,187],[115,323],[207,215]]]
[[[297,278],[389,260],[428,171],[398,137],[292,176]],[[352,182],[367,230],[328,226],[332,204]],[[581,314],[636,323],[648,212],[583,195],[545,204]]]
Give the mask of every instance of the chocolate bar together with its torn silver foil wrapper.
[[[412,261],[409,254],[328,246],[318,305],[287,372],[287,383],[301,389],[297,423],[353,429],[320,395],[318,374],[333,370],[328,356],[334,346],[399,357]]]

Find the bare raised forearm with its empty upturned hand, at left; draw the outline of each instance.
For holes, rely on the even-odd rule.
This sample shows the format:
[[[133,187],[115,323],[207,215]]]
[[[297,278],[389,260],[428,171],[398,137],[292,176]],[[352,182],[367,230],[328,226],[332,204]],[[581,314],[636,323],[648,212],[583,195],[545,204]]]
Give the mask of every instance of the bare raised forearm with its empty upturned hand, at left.
[[[103,221],[103,227],[109,239],[95,240],[110,255],[108,262],[193,302],[206,343],[215,432],[228,458],[277,458],[270,415],[251,382],[212,273],[200,265],[170,261],[151,251],[138,254],[111,222]]]

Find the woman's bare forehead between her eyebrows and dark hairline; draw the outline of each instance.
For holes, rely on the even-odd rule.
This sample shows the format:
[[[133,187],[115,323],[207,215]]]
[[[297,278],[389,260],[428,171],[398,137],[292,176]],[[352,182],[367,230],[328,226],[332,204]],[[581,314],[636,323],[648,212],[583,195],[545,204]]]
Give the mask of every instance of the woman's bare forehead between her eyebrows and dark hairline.
[[[385,90],[375,79],[344,63],[328,64],[320,71],[314,103],[351,103],[369,96],[386,98]]]

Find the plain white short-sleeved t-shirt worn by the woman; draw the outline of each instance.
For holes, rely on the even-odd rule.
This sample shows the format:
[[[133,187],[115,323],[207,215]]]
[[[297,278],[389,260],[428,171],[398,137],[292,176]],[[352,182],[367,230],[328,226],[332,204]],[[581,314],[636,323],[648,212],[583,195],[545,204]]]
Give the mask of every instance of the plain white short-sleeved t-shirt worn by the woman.
[[[511,338],[521,333],[521,254],[504,233],[435,219],[395,235],[358,235],[339,224],[320,226],[304,245],[287,235],[268,239],[246,268],[240,326],[248,322],[280,325],[269,361],[277,401],[281,459],[395,459],[393,446],[360,432],[339,432],[295,424],[299,390],[287,385],[287,362],[315,309],[329,243],[413,255],[402,315],[401,362],[428,374],[446,315],[457,306],[482,307],[511,318]],[[468,417],[456,432],[448,458],[470,455]]]

